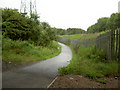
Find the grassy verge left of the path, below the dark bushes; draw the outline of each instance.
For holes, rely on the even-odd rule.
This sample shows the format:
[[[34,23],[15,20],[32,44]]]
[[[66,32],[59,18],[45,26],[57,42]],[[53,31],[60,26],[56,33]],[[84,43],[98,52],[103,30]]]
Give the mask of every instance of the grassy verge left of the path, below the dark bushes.
[[[2,60],[16,65],[45,60],[57,56],[60,52],[61,46],[55,41],[48,47],[35,46],[29,41],[13,41],[6,38],[2,43]]]

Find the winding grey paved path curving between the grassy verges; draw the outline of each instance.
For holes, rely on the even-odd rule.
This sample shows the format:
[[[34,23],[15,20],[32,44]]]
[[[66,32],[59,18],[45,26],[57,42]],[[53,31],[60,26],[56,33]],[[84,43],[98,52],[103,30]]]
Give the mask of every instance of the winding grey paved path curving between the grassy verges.
[[[64,44],[61,54],[36,64],[3,73],[3,88],[46,88],[58,75],[58,68],[68,65],[72,58],[70,48]]]

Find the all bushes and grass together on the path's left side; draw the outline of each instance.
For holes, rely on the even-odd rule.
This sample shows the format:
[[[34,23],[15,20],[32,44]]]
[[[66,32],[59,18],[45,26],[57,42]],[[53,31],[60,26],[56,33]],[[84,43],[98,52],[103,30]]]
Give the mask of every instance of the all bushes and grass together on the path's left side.
[[[0,11],[3,67],[45,60],[60,53],[60,45],[54,41],[56,35],[51,26],[40,22],[37,14],[28,17],[16,9],[6,8]]]

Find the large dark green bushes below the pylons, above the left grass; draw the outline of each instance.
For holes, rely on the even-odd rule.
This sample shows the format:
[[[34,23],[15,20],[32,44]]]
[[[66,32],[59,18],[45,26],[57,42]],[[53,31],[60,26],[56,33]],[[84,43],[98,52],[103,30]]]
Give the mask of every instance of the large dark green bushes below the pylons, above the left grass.
[[[16,9],[2,9],[2,34],[12,40],[31,40],[35,45],[47,46],[55,38],[51,27],[41,26],[39,16],[31,14],[31,18],[19,13]]]

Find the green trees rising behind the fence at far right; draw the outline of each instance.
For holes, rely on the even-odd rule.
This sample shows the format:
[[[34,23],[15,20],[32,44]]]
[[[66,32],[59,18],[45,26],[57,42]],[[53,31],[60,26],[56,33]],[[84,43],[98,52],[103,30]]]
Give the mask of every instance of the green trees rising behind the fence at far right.
[[[88,33],[101,32],[106,30],[115,30],[120,28],[120,13],[113,13],[110,17],[102,17],[97,20],[97,23],[91,25]]]

